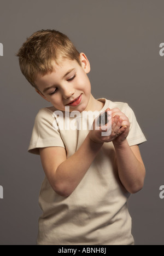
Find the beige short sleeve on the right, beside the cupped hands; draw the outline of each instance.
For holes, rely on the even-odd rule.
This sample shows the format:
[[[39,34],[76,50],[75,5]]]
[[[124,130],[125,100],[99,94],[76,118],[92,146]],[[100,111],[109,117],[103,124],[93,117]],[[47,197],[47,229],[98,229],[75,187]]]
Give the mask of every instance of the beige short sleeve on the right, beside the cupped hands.
[[[127,108],[125,111],[125,115],[128,117],[130,121],[130,132],[127,136],[127,141],[130,146],[138,145],[147,141],[142,130],[139,127],[139,124],[136,120],[136,116],[134,115],[133,110],[127,104]]]

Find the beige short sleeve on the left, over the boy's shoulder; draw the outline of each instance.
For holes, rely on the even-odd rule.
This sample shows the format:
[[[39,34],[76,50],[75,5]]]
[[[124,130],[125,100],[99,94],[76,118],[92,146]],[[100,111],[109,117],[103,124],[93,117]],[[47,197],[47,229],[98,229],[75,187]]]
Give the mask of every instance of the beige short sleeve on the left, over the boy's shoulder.
[[[54,129],[55,118],[48,108],[39,110],[35,118],[28,152],[39,155],[40,147],[65,147],[60,132]]]

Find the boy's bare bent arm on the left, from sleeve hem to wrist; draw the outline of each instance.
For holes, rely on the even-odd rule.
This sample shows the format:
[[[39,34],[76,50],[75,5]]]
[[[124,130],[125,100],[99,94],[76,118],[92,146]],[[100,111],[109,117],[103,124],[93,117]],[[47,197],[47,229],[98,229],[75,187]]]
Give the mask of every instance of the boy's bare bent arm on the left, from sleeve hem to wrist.
[[[83,179],[102,145],[86,136],[83,144],[68,159],[63,147],[40,148],[42,166],[52,189],[61,196],[69,196]]]

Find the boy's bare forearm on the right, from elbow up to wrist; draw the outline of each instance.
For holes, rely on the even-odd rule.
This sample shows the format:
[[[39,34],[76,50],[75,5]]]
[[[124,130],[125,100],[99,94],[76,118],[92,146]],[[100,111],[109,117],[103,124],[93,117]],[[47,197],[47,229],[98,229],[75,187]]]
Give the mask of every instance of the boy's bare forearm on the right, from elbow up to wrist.
[[[113,143],[114,144],[114,143]],[[134,155],[127,140],[122,145],[115,145],[118,174],[122,185],[130,193],[136,193],[143,187],[145,168]]]

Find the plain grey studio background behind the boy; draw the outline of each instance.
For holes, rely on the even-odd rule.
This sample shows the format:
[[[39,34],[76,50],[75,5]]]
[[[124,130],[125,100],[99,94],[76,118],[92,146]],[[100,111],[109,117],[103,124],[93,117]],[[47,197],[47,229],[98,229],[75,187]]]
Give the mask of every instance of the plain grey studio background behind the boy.
[[[40,29],[66,33],[90,60],[95,98],[127,102],[148,142],[140,145],[147,176],[128,202],[136,244],[164,244],[163,0],[1,0],[0,244],[36,244],[39,156],[27,152],[34,117],[49,106],[22,76],[15,53]]]

